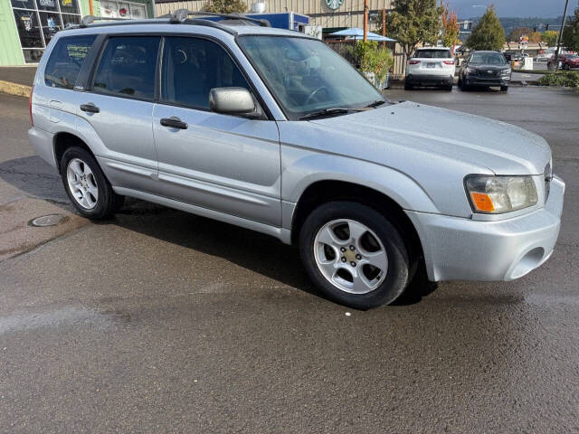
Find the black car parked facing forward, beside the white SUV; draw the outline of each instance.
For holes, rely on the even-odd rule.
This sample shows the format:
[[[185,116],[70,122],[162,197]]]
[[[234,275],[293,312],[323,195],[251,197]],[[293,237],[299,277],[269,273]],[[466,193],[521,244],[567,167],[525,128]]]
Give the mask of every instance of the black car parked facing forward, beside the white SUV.
[[[500,86],[506,92],[511,78],[511,68],[501,52],[472,52],[462,62],[459,71],[459,88],[472,86]]]

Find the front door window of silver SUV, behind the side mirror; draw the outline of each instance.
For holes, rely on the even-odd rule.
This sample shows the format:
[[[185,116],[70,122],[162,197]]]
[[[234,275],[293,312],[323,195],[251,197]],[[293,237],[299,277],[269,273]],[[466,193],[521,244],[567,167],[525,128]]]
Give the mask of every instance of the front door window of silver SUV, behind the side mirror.
[[[231,56],[221,45],[205,39],[166,38],[161,65],[164,102],[209,109],[209,91],[214,88],[250,90]]]

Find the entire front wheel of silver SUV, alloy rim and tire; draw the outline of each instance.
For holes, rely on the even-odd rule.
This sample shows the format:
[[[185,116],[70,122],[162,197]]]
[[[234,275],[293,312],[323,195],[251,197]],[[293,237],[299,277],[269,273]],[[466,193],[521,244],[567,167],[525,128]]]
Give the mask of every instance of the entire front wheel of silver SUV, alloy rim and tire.
[[[353,232],[362,235],[352,241]],[[324,295],[362,310],[394,302],[413,270],[403,232],[387,216],[354,202],[325,203],[311,212],[299,232],[299,253]],[[356,278],[351,270],[362,274]]]

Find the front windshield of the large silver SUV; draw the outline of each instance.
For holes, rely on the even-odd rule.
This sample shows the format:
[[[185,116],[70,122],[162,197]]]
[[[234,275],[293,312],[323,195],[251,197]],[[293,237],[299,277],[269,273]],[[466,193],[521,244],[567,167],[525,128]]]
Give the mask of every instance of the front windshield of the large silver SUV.
[[[287,36],[240,36],[238,42],[286,116],[365,107],[384,99],[324,42]]]

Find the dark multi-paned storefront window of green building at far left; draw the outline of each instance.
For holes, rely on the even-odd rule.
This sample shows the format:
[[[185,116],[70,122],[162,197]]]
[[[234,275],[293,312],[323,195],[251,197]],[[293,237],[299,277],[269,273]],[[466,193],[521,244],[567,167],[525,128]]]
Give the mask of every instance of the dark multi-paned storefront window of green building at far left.
[[[40,61],[44,48],[66,24],[81,22],[79,0],[11,0],[24,61]]]

